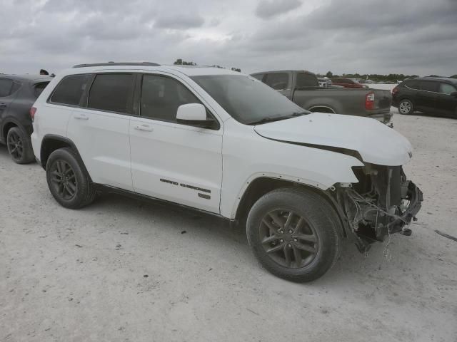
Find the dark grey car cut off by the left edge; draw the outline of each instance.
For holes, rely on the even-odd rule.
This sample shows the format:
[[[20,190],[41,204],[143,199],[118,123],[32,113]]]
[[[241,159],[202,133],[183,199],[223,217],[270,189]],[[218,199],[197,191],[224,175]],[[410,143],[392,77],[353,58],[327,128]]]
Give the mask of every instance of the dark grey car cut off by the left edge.
[[[18,164],[35,160],[29,112],[50,80],[49,76],[0,75],[0,142]]]

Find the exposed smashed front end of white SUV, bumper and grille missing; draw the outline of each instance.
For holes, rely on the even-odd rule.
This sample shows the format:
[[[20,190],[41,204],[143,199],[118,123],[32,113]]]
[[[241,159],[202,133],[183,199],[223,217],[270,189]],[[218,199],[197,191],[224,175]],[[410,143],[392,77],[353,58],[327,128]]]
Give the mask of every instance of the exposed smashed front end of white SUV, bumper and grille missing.
[[[423,195],[401,166],[365,164],[353,167],[359,182],[336,185],[336,200],[346,218],[348,235],[360,252],[388,234],[411,235],[408,224],[416,219]]]

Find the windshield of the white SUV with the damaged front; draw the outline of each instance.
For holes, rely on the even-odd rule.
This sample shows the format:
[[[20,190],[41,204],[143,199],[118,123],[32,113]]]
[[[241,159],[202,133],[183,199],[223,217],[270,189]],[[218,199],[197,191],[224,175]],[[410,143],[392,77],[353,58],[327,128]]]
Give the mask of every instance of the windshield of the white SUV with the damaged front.
[[[307,114],[286,96],[245,75],[191,77],[235,120],[247,125]]]

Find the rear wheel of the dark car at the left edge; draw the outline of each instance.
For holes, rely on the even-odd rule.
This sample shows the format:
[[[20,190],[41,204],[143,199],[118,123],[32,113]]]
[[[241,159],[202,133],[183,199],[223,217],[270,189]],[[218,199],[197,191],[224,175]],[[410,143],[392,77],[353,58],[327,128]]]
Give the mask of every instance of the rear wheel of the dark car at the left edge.
[[[6,134],[6,147],[11,159],[17,164],[28,164],[35,160],[30,137],[19,127],[9,129]]]

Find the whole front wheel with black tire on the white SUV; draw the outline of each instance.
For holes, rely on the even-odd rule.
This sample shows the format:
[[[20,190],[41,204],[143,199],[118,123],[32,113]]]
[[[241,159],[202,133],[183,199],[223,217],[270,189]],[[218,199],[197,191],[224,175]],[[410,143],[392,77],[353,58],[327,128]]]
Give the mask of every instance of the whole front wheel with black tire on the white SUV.
[[[289,212],[287,217],[292,213],[292,219],[281,217],[282,212]],[[282,223],[276,224],[273,217]],[[299,231],[297,227],[301,227]],[[282,279],[296,282],[313,281],[331,269],[339,256],[340,233],[338,216],[325,199],[313,192],[288,188],[273,190],[258,199],[246,224],[248,242],[261,265]]]

